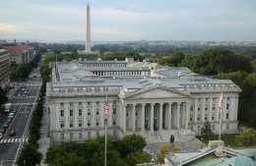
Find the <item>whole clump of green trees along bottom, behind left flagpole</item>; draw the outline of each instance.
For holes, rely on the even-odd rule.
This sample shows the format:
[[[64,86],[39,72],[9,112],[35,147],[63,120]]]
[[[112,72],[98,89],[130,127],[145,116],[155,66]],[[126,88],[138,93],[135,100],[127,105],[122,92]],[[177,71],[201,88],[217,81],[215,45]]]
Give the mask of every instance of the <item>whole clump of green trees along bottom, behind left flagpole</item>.
[[[135,138],[131,141],[131,138]],[[107,165],[134,166],[138,163],[149,162],[150,156],[142,148],[146,145],[145,138],[133,134],[125,136],[116,143],[111,138],[107,138]],[[128,144],[128,143],[131,143]],[[127,145],[128,144],[128,145]],[[117,148],[118,146],[118,148]],[[131,147],[130,147],[131,146]],[[123,155],[124,150],[125,154]],[[122,155],[120,155],[122,154]],[[123,156],[123,157],[122,157]],[[104,164],[104,137],[86,140],[83,143],[75,141],[61,142],[51,146],[46,153],[45,163],[49,166],[69,166],[75,165],[94,165]]]

